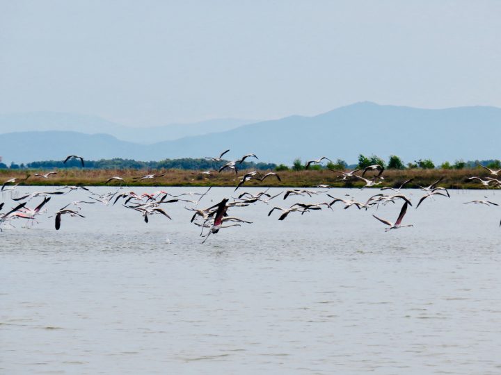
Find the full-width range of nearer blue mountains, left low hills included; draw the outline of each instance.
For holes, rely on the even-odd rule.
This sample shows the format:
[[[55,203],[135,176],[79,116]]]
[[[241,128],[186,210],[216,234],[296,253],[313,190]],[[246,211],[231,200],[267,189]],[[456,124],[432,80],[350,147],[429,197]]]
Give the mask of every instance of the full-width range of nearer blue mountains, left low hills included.
[[[109,135],[78,133],[17,133],[0,135],[0,155],[6,162],[61,159],[81,153],[88,159],[238,158],[254,152],[260,161],[292,164],[327,156],[356,162],[359,153],[404,162],[431,158],[436,163],[500,158],[501,109],[460,107],[439,110],[355,103],[313,117],[291,116],[247,124],[220,133],[157,142],[148,146],[122,142]],[[61,149],[63,147],[64,149]]]

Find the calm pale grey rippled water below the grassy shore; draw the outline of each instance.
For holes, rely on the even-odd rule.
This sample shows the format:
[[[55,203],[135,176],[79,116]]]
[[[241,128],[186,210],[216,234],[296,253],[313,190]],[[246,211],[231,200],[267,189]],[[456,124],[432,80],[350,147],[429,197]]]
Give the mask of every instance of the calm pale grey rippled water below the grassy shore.
[[[200,206],[231,195],[214,188]],[[463,204],[485,195],[501,203],[451,191],[389,233],[375,210],[340,203],[279,222],[273,203],[326,197],[278,197],[230,210],[253,224],[205,244],[182,203],[148,224],[84,205],[55,231],[47,216],[87,193],[54,197],[40,224],[0,233],[0,373],[501,374],[501,210]]]

